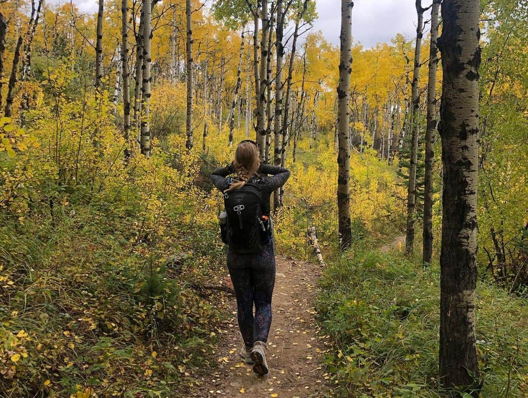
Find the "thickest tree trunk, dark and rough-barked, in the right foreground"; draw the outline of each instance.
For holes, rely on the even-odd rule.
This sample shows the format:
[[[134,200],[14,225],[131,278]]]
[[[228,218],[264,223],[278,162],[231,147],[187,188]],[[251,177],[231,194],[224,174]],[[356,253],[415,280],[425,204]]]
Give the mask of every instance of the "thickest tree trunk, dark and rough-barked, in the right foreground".
[[[478,387],[477,281],[478,0],[444,0],[439,132],[444,197],[440,253],[440,380]]]

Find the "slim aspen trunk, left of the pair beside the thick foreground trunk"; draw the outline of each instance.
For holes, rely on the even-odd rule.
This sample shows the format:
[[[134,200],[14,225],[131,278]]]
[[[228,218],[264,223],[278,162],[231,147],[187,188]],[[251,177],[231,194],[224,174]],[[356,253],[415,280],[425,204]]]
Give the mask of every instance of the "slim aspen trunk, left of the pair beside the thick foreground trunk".
[[[414,47],[414,72],[412,75],[412,138],[409,166],[409,185],[407,189],[407,231],[405,240],[405,251],[412,253],[414,246],[414,210],[416,207],[416,163],[418,161],[418,123],[420,112],[420,97],[418,94],[418,82],[420,79],[420,54],[423,35],[423,12],[421,0],[416,0],[416,12],[418,14],[418,25],[416,27],[416,46]]]

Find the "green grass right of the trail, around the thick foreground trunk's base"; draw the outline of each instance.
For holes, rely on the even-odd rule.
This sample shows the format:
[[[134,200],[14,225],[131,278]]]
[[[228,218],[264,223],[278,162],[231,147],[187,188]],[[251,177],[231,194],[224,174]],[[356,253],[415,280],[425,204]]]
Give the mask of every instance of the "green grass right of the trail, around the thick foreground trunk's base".
[[[383,254],[361,242],[348,254],[329,264],[318,300],[320,322],[335,343],[327,355],[335,396],[444,396],[438,381],[438,263],[422,270],[419,260],[398,250]],[[483,397],[528,395],[526,304],[478,282]]]

